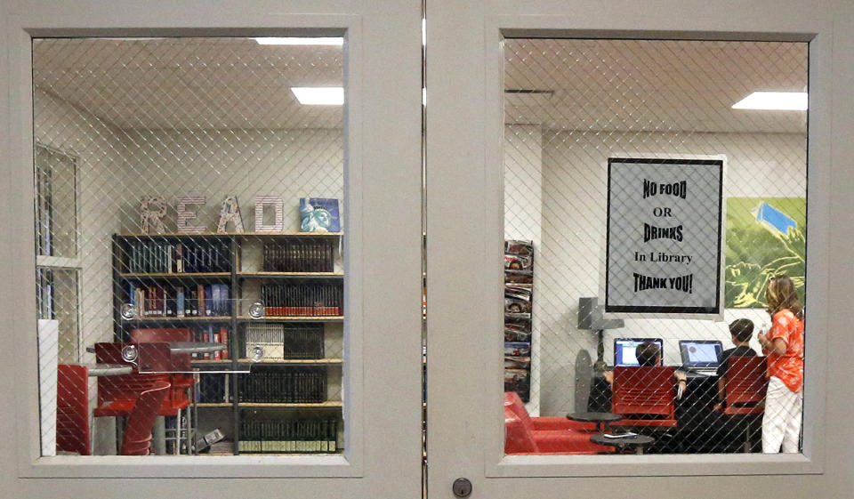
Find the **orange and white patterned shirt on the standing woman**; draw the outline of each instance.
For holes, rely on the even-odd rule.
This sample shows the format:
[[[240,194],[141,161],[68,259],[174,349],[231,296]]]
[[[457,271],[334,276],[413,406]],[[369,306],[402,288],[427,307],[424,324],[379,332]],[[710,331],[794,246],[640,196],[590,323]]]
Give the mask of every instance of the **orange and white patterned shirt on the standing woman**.
[[[798,392],[803,387],[803,321],[792,310],[783,309],[774,314],[768,339],[786,343],[786,353],[768,356],[768,375],[782,381],[789,390]]]

